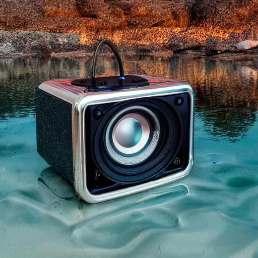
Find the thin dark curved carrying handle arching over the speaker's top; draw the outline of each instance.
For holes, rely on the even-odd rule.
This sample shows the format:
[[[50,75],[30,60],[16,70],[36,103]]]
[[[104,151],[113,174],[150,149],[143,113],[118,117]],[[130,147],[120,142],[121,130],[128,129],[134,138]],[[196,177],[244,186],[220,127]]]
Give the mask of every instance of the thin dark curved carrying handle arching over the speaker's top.
[[[91,74],[91,80],[92,80],[92,86],[96,87],[96,80],[95,80],[95,70],[96,70],[96,63],[97,63],[97,57],[98,57],[98,53],[99,53],[99,48],[101,45],[108,45],[111,50],[113,51],[117,62],[118,62],[118,67],[119,67],[119,85],[122,85],[122,81],[125,80],[124,78],[124,71],[123,71],[123,64],[122,64],[122,60],[121,57],[118,53],[118,50],[116,49],[115,45],[109,40],[109,39],[102,39],[101,41],[99,41],[99,43],[97,44],[95,51],[94,51],[94,56],[93,56],[93,63],[92,63],[92,74]]]

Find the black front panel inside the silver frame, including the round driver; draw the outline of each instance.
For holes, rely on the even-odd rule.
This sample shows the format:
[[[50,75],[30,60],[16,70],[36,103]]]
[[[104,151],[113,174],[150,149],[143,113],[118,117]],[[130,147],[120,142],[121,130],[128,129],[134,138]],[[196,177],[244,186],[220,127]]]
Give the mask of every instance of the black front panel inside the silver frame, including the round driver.
[[[92,195],[155,181],[188,165],[188,93],[91,105],[84,120]]]

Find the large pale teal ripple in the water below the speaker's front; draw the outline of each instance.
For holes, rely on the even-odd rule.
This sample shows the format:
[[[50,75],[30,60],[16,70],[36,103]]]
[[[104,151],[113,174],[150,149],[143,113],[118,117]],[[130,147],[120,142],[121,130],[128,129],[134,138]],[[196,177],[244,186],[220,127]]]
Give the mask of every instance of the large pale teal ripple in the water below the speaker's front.
[[[71,239],[78,246],[121,248],[141,233],[172,230],[179,218],[165,207],[138,207],[97,216],[75,227]]]

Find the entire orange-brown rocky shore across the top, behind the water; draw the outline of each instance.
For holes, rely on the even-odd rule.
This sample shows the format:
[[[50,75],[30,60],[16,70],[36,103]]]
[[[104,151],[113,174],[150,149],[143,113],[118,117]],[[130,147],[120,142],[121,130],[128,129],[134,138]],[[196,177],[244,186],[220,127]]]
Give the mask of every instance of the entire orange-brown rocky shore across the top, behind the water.
[[[120,51],[256,54],[258,0],[2,0],[0,57]],[[79,52],[78,52],[79,51]]]

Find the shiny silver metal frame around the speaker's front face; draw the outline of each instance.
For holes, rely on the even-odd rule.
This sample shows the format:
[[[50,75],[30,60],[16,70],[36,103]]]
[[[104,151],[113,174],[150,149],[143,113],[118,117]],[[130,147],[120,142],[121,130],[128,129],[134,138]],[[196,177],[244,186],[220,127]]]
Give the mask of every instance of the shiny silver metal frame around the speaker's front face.
[[[189,163],[185,170],[176,174],[172,174],[155,181],[143,183],[119,189],[100,195],[92,195],[86,182],[86,162],[85,162],[85,110],[90,105],[98,105],[110,102],[133,100],[138,98],[148,98],[155,96],[166,96],[172,94],[180,94],[187,92],[190,96],[190,130],[189,130]],[[188,175],[193,165],[193,104],[195,94],[188,84],[182,82],[178,85],[163,86],[157,85],[153,87],[142,87],[114,92],[90,92],[82,94],[81,97],[73,105],[73,155],[74,155],[74,177],[75,189],[77,194],[86,202],[94,204],[108,201],[123,196],[132,195],[141,191],[158,187]]]

